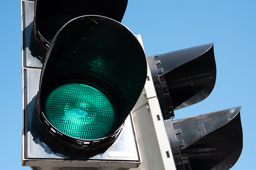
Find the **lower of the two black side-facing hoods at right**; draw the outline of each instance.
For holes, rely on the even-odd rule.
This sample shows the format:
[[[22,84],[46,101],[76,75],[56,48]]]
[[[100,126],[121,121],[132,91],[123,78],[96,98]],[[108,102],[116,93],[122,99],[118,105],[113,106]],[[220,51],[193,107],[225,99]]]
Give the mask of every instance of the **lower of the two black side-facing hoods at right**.
[[[230,169],[243,148],[240,109],[165,121],[177,170]]]

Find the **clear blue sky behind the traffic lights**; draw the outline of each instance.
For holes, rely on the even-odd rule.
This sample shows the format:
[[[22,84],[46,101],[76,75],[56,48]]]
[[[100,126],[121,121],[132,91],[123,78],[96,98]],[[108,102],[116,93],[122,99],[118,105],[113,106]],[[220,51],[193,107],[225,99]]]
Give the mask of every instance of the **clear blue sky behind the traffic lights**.
[[[255,169],[256,1],[129,0],[122,23],[141,34],[147,56],[214,42],[217,79],[211,95],[176,118],[242,106],[243,151],[232,170]],[[1,5],[1,169],[21,166],[20,1]]]

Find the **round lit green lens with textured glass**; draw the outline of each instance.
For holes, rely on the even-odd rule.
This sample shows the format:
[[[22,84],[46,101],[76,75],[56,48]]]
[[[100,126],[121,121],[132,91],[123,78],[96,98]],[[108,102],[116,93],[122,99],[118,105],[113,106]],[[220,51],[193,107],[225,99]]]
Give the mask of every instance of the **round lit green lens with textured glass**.
[[[108,98],[83,84],[66,84],[54,89],[45,101],[45,115],[56,129],[80,139],[101,138],[115,122]]]

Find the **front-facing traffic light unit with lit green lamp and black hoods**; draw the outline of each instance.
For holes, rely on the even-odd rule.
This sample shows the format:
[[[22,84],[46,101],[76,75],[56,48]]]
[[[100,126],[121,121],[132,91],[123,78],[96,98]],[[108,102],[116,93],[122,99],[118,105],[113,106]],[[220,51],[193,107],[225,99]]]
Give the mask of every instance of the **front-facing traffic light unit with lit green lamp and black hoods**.
[[[126,5],[21,1],[23,166],[140,165],[130,112],[148,70],[140,42],[120,23]]]

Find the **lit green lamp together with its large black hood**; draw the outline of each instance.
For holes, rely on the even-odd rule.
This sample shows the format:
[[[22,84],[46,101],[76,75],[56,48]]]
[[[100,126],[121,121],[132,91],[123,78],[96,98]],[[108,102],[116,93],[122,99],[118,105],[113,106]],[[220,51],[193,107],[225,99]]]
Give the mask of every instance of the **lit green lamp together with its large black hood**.
[[[119,22],[77,17],[46,53],[36,121],[60,148],[94,151],[113,144],[144,87],[147,61],[134,34]]]

